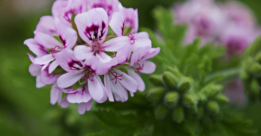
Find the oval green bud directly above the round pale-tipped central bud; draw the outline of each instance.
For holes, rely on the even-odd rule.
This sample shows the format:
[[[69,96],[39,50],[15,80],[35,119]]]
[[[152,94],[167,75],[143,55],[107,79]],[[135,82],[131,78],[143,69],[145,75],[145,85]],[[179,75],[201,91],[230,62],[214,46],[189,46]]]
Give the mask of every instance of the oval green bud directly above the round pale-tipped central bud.
[[[163,81],[169,88],[177,88],[178,79],[171,72],[164,72]]]

